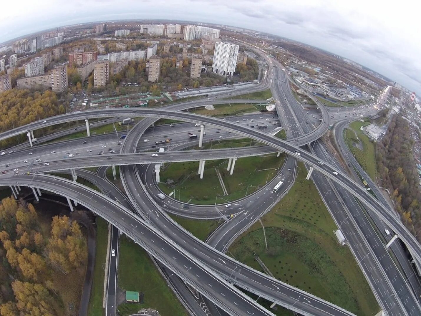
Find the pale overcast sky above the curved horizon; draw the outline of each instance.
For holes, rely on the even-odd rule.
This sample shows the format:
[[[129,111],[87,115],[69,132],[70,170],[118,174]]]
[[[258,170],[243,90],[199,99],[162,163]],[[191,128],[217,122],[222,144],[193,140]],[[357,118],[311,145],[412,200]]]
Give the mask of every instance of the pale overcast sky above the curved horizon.
[[[421,95],[419,1],[21,0],[2,3],[0,43],[89,21],[178,19],[256,29],[323,48]]]

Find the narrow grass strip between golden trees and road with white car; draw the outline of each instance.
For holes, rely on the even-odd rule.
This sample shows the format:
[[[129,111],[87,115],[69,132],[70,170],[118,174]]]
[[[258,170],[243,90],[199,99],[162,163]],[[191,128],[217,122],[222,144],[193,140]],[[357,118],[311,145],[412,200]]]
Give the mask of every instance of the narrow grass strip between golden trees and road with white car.
[[[102,316],[104,295],[104,267],[107,257],[108,223],[101,217],[96,218],[96,249],[95,266],[93,268],[93,282],[91,298],[89,299],[88,316]]]

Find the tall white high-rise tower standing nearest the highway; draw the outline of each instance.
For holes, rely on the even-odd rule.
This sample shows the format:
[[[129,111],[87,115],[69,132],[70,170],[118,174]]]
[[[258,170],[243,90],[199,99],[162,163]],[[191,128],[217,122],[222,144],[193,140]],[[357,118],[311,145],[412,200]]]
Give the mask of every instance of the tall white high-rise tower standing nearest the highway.
[[[237,66],[238,48],[235,44],[216,42],[212,71],[218,75],[232,77]]]

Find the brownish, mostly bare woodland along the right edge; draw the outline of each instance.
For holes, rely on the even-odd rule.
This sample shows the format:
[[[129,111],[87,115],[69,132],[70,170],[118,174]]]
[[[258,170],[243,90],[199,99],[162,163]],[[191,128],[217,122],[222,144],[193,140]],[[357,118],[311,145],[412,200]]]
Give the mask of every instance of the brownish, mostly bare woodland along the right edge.
[[[421,193],[413,158],[413,139],[408,122],[396,116],[381,142],[376,145],[376,161],[381,185],[389,189],[395,208],[406,227],[418,237],[421,231]]]

